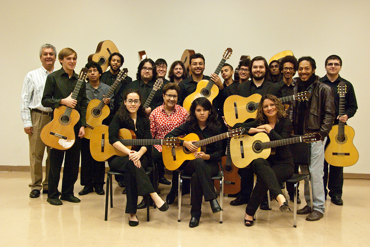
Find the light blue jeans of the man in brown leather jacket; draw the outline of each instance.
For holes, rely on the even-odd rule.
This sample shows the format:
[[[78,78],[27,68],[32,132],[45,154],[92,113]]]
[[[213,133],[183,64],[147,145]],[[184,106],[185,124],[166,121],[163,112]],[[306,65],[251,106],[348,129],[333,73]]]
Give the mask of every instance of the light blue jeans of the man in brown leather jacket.
[[[311,185],[312,185],[312,204],[313,209],[324,213],[325,212],[325,193],[324,193],[324,141],[311,143]],[[308,174],[307,166],[300,166],[302,174]],[[308,179],[305,179],[305,199],[307,206],[311,206],[310,189]]]

